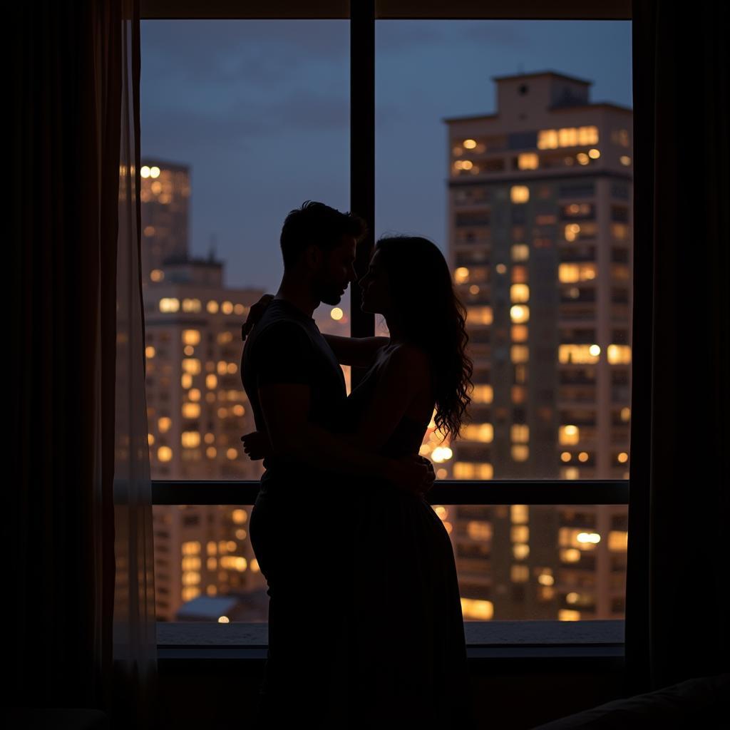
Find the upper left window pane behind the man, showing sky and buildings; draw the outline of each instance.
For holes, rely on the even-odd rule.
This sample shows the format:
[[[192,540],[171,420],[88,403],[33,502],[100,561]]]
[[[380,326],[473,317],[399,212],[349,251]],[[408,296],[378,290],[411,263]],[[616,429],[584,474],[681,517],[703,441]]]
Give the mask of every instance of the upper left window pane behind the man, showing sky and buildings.
[[[142,23],[142,277],[154,479],[255,480],[241,324],[285,216],[349,207],[344,20]],[[348,334],[348,305],[315,312]],[[337,318],[339,317],[339,318]],[[337,319],[336,319],[337,318]]]

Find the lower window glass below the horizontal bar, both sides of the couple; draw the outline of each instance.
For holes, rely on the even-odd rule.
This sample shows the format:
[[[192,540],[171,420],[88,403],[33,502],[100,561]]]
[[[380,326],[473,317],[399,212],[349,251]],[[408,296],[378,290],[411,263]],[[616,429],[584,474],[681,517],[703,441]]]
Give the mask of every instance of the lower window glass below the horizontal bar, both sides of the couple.
[[[451,538],[470,641],[479,643],[485,634],[476,625],[491,621],[623,620],[624,507],[434,504],[433,509]],[[266,579],[248,539],[250,514],[250,505],[155,506],[160,620],[266,623]],[[180,642],[179,633],[174,637]],[[241,641],[265,644],[265,631],[256,629]]]

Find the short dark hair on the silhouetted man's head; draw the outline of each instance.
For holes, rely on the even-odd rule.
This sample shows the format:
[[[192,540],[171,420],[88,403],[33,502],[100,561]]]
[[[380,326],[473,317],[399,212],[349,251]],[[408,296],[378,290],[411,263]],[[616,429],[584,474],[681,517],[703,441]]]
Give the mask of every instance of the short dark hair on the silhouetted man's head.
[[[287,215],[281,229],[284,268],[296,266],[307,246],[315,245],[331,251],[342,243],[343,236],[353,236],[359,241],[365,233],[365,222],[357,215],[308,200]]]

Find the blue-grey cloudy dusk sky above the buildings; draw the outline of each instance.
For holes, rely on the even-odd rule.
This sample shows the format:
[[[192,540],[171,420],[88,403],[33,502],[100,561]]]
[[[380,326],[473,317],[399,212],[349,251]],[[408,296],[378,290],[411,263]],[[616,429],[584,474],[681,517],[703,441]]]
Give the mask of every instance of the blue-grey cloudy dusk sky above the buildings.
[[[226,284],[275,291],[285,215],[349,210],[346,20],[143,20],[142,156],[191,167],[190,242]],[[630,21],[384,20],[376,26],[376,237],[446,245],[443,119],[495,112],[494,76],[555,71],[632,107]]]

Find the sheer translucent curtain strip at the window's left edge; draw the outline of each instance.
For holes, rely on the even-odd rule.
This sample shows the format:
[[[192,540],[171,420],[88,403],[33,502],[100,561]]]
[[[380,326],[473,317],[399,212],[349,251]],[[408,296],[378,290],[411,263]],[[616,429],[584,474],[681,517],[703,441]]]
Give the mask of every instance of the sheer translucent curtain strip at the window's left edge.
[[[121,139],[115,388],[115,724],[155,723],[157,639],[139,203],[139,0],[120,18]]]

